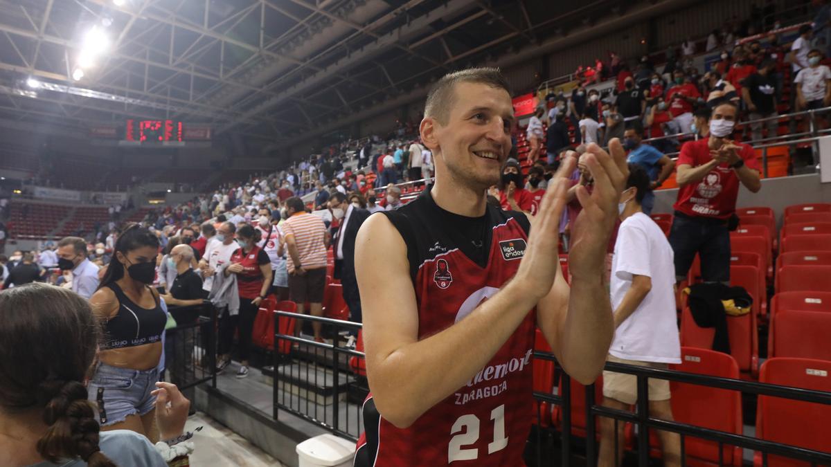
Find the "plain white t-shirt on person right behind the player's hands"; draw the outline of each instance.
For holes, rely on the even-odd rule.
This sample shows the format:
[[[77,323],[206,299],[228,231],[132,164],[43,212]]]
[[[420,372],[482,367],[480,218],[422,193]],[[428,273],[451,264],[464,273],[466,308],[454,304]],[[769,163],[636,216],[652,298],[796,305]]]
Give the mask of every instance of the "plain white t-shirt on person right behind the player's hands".
[[[681,363],[676,324],[675,266],[670,243],[647,214],[625,219],[617,231],[612,257],[612,309],[632,287],[632,275],[648,276],[652,289],[615,331],[609,353],[617,358]]]

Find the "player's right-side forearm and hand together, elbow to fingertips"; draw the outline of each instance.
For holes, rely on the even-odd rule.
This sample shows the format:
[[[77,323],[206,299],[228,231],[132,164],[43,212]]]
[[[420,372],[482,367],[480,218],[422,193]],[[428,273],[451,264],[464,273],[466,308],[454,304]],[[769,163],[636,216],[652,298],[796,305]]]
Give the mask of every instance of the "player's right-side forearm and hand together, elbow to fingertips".
[[[614,337],[612,304],[603,277],[607,244],[617,219],[617,201],[628,170],[620,140],[613,138],[609,148],[612,155],[594,143],[587,148],[591,155],[586,163],[595,183],[592,194],[585,187],[577,190],[583,210],[572,226],[572,248],[568,253],[571,291],[565,293],[563,273],[555,261],[557,277],[537,304],[538,326],[554,355],[563,370],[583,384],[594,382],[602,371]],[[550,206],[540,206],[540,213],[552,209]],[[538,227],[534,224],[534,229]],[[558,225],[554,230],[542,230],[543,234],[558,238]]]

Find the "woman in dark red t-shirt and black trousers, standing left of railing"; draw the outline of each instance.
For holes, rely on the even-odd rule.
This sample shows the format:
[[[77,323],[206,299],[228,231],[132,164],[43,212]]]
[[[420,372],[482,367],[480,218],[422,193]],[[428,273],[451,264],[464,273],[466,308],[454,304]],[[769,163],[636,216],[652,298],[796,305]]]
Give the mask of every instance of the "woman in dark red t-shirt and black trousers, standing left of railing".
[[[237,275],[237,288],[239,295],[238,319],[238,356],[239,369],[238,378],[248,376],[248,356],[251,355],[251,341],[254,326],[254,319],[257,317],[257,310],[268,292],[271,290],[272,272],[271,260],[268,254],[258,247],[260,232],[248,224],[237,229],[237,248],[231,254],[231,261],[228,268],[224,268],[225,277],[231,274]],[[232,328],[234,326],[232,325]],[[230,354],[224,355],[225,359]]]

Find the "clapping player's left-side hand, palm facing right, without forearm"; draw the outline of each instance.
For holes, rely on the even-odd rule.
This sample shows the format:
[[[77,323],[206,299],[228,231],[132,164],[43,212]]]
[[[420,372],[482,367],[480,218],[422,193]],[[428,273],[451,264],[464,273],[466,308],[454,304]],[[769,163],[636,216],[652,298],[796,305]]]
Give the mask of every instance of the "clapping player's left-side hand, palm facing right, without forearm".
[[[557,173],[548,182],[548,189],[539,204],[539,211],[533,219],[533,228],[528,238],[528,248],[519,263],[517,278],[529,286],[529,293],[536,297],[545,296],[557,278],[560,269],[558,243],[560,219],[566,206],[568,175],[574,171],[577,159],[568,151]]]

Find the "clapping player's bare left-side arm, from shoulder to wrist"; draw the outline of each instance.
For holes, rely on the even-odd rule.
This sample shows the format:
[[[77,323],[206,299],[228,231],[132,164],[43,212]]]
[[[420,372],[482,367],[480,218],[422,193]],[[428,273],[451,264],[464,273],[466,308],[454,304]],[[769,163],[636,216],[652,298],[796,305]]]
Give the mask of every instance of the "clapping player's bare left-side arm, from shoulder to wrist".
[[[419,341],[416,291],[401,234],[386,216],[370,216],[355,245],[366,375],[378,411],[399,428],[465,386],[539,298],[532,283],[514,278],[461,322]]]

